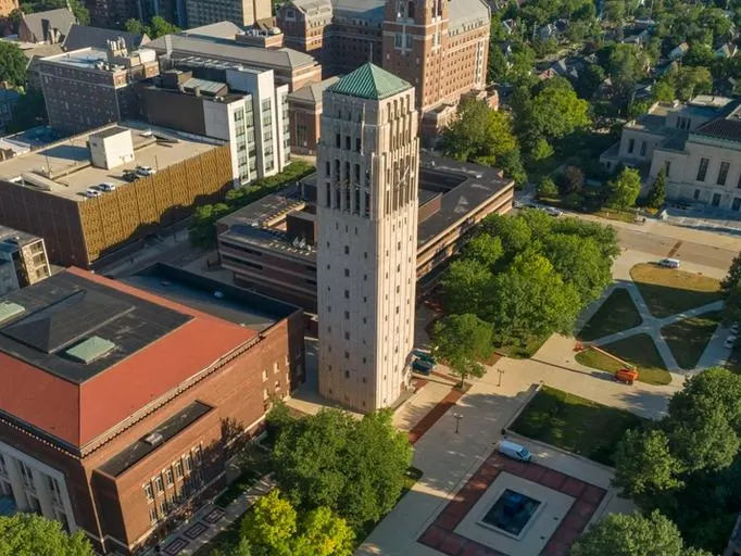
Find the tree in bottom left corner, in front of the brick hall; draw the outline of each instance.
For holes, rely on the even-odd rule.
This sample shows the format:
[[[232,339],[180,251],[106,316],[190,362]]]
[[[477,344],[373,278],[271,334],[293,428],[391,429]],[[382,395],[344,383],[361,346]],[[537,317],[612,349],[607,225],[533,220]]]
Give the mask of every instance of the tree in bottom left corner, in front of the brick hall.
[[[67,535],[59,521],[35,514],[0,516],[0,556],[93,556],[81,531]]]

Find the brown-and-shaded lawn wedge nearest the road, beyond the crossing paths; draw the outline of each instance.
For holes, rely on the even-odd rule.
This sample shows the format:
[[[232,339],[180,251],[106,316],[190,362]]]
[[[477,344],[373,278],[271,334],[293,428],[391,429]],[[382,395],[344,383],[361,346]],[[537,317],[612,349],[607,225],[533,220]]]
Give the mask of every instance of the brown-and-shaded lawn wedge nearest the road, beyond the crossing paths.
[[[660,318],[720,299],[720,282],[707,276],[664,268],[651,263],[633,266],[630,276],[641,291],[649,311]]]

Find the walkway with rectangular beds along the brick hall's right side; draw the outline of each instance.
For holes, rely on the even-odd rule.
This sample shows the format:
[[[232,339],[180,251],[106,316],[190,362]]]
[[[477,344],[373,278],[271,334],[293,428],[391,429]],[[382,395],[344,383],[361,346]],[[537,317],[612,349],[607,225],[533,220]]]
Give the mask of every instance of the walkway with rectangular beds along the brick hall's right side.
[[[166,556],[191,556],[196,554],[214,536],[240,519],[258,498],[267,494],[273,486],[275,486],[273,480],[265,476],[225,508],[213,503],[203,506],[190,520],[183,523],[160,543],[162,554]],[[147,556],[153,554],[155,554],[154,549],[151,549]]]

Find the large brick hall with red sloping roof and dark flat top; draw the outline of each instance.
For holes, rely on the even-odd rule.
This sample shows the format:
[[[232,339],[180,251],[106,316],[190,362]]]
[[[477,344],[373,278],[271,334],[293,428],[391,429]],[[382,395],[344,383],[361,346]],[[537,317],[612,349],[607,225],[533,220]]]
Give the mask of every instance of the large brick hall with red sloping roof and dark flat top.
[[[214,300],[218,283],[178,268],[135,278],[70,268],[0,299],[2,506],[102,554],[151,547],[224,490],[235,443],[303,375],[294,307]]]

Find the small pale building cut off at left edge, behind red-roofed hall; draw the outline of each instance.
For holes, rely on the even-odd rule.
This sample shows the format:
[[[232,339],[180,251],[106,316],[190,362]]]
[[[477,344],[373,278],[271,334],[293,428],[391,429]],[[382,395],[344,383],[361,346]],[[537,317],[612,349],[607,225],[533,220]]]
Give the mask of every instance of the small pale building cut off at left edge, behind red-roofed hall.
[[[0,226],[0,296],[50,275],[42,238]]]

